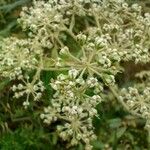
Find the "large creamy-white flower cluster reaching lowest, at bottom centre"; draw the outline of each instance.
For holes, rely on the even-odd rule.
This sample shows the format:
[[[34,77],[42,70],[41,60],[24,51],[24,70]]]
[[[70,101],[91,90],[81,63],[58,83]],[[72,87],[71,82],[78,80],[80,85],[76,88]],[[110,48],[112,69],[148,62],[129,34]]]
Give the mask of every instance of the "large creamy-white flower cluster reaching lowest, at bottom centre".
[[[97,116],[95,107],[101,102],[102,87],[94,77],[84,80],[77,75],[78,71],[72,69],[68,75],[61,74],[52,80],[51,86],[56,92],[41,118],[46,124],[61,121],[56,129],[59,136],[71,146],[84,142],[88,150],[92,148],[90,141],[96,138],[92,118]],[[91,89],[99,91],[89,95],[87,90]]]

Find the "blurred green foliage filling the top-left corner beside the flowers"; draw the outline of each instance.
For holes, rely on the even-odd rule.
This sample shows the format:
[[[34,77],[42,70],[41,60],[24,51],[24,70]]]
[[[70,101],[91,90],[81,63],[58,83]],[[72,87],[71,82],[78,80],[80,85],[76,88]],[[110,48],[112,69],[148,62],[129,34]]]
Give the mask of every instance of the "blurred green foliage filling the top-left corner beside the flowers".
[[[1,0],[0,1],[0,36],[7,37],[18,32],[17,18],[20,8],[30,5],[32,0]]]

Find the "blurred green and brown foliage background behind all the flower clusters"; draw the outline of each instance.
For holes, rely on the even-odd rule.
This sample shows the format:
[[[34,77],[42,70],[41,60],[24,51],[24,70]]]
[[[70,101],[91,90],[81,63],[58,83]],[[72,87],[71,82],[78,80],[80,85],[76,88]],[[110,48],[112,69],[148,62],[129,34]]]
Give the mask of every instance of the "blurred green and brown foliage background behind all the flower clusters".
[[[140,3],[145,12],[150,12],[149,0],[128,0],[129,3]],[[24,37],[17,25],[21,7],[30,6],[32,0],[0,0],[0,38],[15,35]],[[73,45],[70,40],[70,45]],[[75,45],[73,45],[75,46]],[[123,64],[125,73],[118,76],[118,84],[127,86],[138,70],[148,66],[135,66],[132,63]],[[131,69],[132,68],[132,69]],[[49,89],[49,80],[56,73],[43,73],[42,80]],[[13,105],[8,92],[11,83],[0,79],[0,150],[64,150],[64,143],[59,141],[53,129],[46,127],[39,119],[40,108],[37,111],[25,111],[20,104]],[[7,91],[7,92],[6,92]],[[46,92],[45,99],[51,93]],[[9,101],[8,101],[9,100]],[[10,108],[10,103],[11,107]],[[125,112],[112,95],[97,107],[100,118],[94,119],[95,133],[98,140],[93,142],[94,150],[148,150],[150,135],[144,129],[145,121],[135,118]],[[82,150],[80,144],[74,150]]]

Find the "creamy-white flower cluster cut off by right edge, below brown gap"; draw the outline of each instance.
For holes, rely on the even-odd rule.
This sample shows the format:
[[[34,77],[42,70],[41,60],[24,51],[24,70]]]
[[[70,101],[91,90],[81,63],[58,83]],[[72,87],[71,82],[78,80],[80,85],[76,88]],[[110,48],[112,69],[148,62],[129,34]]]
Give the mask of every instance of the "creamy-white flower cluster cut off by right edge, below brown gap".
[[[150,129],[150,72],[141,71],[135,75],[140,79],[132,87],[123,88],[119,99],[133,114],[146,119],[146,129]]]

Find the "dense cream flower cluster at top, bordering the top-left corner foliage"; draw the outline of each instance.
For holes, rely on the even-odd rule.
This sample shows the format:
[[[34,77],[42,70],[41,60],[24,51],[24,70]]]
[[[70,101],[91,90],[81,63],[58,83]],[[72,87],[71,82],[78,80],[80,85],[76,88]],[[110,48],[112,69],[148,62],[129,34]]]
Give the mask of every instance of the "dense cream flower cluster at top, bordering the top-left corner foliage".
[[[49,0],[48,2],[33,2],[33,7],[24,7],[18,19],[24,30],[38,33],[41,28],[46,31],[60,31],[63,25],[68,25],[72,15],[84,16],[85,4],[96,3],[96,0]],[[98,2],[98,1],[97,1]]]

